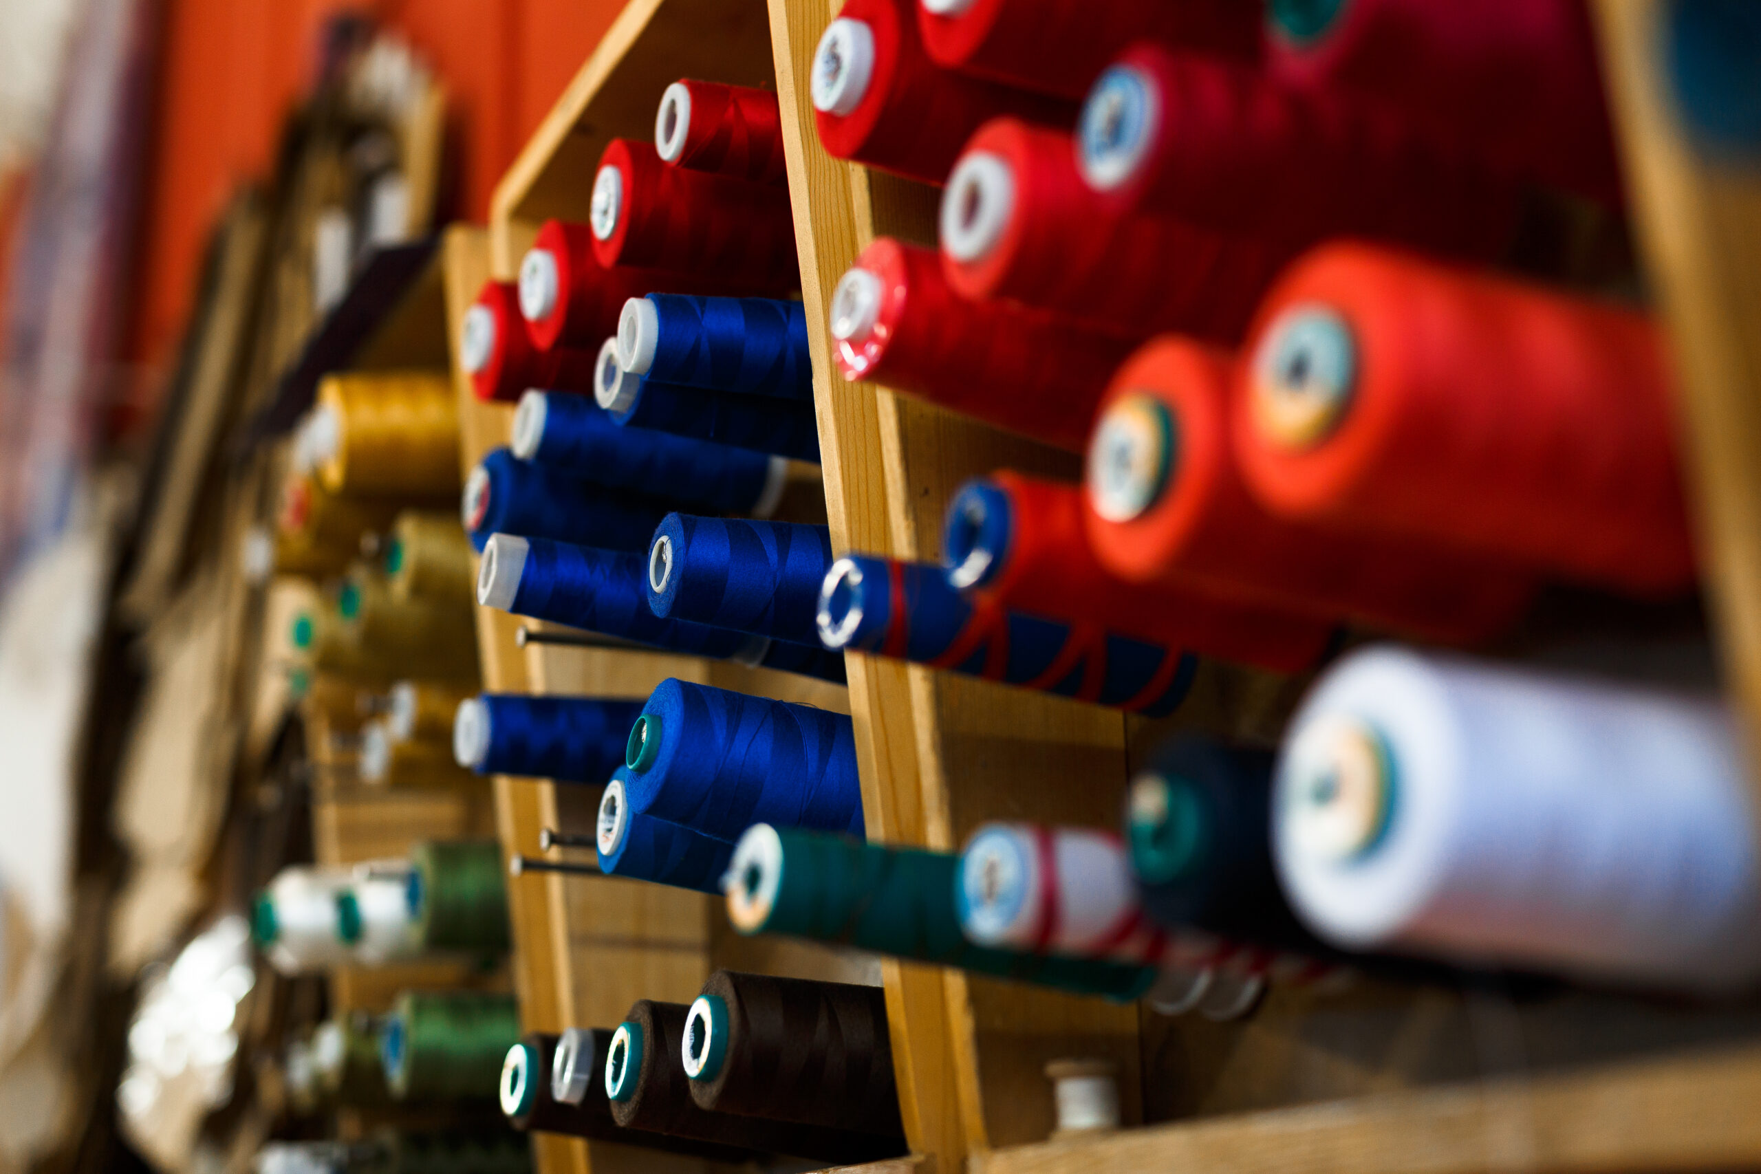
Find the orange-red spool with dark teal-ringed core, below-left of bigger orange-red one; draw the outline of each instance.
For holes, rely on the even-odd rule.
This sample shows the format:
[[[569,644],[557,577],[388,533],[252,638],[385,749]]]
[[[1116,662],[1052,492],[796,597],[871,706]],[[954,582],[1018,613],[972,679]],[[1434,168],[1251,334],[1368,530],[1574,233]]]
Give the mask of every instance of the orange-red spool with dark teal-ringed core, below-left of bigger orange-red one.
[[[1113,377],[1088,452],[1085,521],[1104,567],[1303,614],[1477,642],[1522,613],[1525,576],[1423,542],[1331,533],[1268,514],[1229,444],[1236,361],[1159,338]]]

